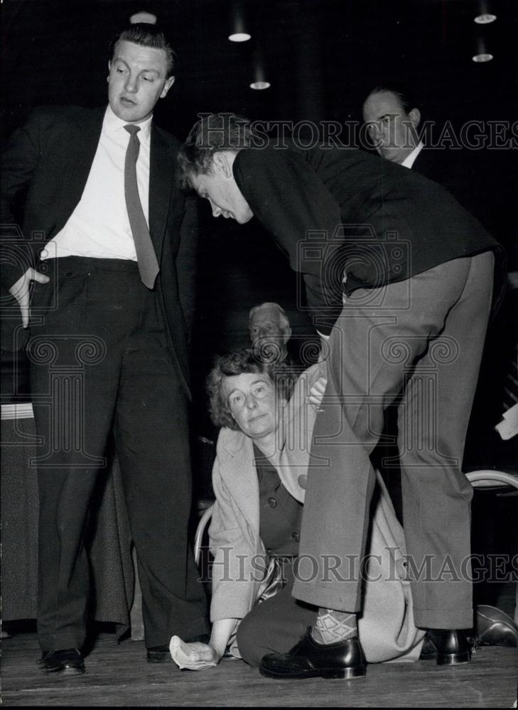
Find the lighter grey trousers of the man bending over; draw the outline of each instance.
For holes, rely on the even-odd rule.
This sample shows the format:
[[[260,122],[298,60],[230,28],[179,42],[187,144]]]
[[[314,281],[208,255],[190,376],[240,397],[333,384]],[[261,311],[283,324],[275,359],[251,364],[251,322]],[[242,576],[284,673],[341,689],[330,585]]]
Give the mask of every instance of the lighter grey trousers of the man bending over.
[[[471,485],[463,449],[492,296],[493,255],[458,258],[347,298],[330,338],[313,431],[297,599],[359,611],[351,576],[365,554],[384,408],[402,391],[399,456],[416,626],[470,628]],[[343,551],[345,550],[345,556]],[[333,574],[326,562],[339,555]],[[316,566],[315,566],[316,565]]]

